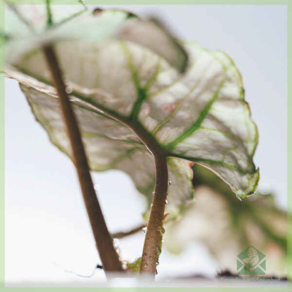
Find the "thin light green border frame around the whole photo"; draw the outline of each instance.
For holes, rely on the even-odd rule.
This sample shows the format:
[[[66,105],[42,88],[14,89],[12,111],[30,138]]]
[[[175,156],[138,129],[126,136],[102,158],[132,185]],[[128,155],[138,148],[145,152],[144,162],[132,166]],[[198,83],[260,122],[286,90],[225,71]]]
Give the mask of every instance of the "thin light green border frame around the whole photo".
[[[15,0],[16,3],[19,4],[44,4],[43,0]],[[58,0],[58,4],[72,4],[71,0]],[[126,5],[126,4],[147,4],[147,5],[155,5],[155,4],[178,4],[178,5],[184,5],[184,4],[193,4],[193,5],[287,5],[287,16],[288,16],[288,73],[287,73],[287,81],[288,81],[288,98],[287,98],[287,110],[289,113],[289,110],[292,110],[292,101],[289,99],[289,96],[291,98],[292,96],[292,0],[86,0],[86,4],[95,4],[95,5],[101,5],[101,4],[113,4],[113,5]],[[0,0],[0,30],[3,31],[4,28],[4,2],[3,0]],[[2,42],[3,39],[0,39],[0,42]],[[291,50],[289,52],[289,49]],[[4,65],[4,46],[0,45],[0,68],[3,68]],[[289,82],[290,81],[290,82]],[[288,283],[287,287],[262,287],[262,288],[256,288],[256,287],[193,287],[193,288],[162,288],[162,287],[151,287],[151,288],[103,288],[103,287],[60,287],[60,288],[54,288],[54,287],[25,287],[25,288],[10,288],[5,287],[5,271],[4,271],[4,265],[5,265],[5,254],[4,254],[4,163],[5,163],[5,144],[4,144],[4,138],[5,138],[5,132],[4,132],[4,77],[0,75],[0,92],[1,92],[1,99],[0,99],[0,185],[1,185],[1,191],[0,191],[0,292],[28,292],[28,291],[43,291],[43,292],[72,292],[72,291],[117,291],[117,292],[128,292],[128,291],[138,291],[138,292],[146,292],[149,289],[151,289],[152,292],[176,292],[176,291],[200,291],[200,292],[214,292],[214,291],[234,291],[235,289],[238,292],[244,292],[246,289],[252,289],[252,291],[255,292],[261,292],[268,290],[269,292],[279,292],[279,291],[292,291],[292,283]],[[289,116],[288,114],[288,149],[287,149],[287,156],[288,156],[288,178],[290,176],[290,173],[292,172],[292,132],[289,133],[292,129],[292,116]],[[292,191],[292,180],[288,180],[288,191],[289,194],[290,191]],[[290,213],[290,216],[292,214],[292,200],[287,195],[288,200],[288,211]],[[289,215],[288,215],[289,216]],[[291,219],[289,220],[292,221]],[[290,235],[290,236],[289,236]],[[292,257],[292,225],[288,225],[288,257]],[[288,263],[288,269],[289,274],[292,274],[292,263]],[[78,290],[77,290],[78,289]]]

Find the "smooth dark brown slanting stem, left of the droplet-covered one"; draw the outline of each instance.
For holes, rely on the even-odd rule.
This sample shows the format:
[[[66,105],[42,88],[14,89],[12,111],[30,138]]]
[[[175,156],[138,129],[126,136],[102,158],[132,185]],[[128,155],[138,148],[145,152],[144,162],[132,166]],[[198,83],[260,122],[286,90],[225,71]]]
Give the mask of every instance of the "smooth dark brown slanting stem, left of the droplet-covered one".
[[[79,128],[66,93],[66,88],[62,80],[62,73],[59,69],[54,50],[52,46],[47,45],[43,48],[43,52],[59,95],[62,116],[71,143],[73,161],[77,170],[83,199],[103,268],[105,272],[123,272],[124,270],[113,247],[112,238],[93,188],[90,169],[87,163]]]

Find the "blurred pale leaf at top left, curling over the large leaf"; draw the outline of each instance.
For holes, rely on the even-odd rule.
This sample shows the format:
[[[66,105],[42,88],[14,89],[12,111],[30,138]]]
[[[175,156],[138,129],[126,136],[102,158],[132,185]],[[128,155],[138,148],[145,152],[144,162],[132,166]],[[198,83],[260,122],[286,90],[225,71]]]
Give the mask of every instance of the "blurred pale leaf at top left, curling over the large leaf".
[[[187,55],[183,47],[157,21],[141,20],[132,13],[120,10],[91,11],[82,1],[75,1],[82,5],[7,6],[6,62],[18,64],[23,55],[59,40],[92,43],[118,38],[140,43],[162,55],[180,72],[185,70]],[[52,0],[49,2],[54,3]]]

